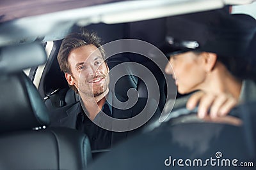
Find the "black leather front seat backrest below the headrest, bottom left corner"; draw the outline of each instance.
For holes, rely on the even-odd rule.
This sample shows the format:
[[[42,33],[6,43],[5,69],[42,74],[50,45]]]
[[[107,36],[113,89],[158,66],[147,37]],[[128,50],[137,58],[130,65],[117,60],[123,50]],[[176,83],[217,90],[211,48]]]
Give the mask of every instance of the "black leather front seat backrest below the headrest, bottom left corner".
[[[88,138],[68,128],[19,131],[0,136],[0,169],[85,169]]]

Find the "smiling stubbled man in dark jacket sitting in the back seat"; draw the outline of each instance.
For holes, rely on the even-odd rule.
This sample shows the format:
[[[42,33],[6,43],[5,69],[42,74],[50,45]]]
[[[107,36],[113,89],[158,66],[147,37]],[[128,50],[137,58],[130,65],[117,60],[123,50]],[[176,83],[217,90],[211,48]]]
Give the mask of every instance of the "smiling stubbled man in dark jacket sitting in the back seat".
[[[104,115],[116,119],[129,119],[144,110],[148,102],[151,108],[146,112],[155,113],[154,118],[160,115],[160,111],[156,110],[157,104],[143,97],[139,97],[132,108],[114,107],[116,102],[114,95],[118,96],[120,102],[125,103],[127,100],[122,95],[109,90],[109,67],[104,55],[100,38],[93,32],[83,31],[72,33],[63,39],[57,57],[68,85],[79,94],[80,100],[52,111],[51,126],[69,127],[84,132],[90,139],[92,150],[111,148],[141,129],[112,132],[113,124],[106,121]],[[99,127],[97,122],[107,124],[108,130]],[[132,122],[128,125],[131,124]]]

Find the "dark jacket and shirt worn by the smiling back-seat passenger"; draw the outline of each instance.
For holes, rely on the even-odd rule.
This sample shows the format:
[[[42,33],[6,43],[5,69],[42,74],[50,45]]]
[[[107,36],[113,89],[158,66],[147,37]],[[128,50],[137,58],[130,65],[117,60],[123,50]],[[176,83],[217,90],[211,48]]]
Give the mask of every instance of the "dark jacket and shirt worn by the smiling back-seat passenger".
[[[113,97],[111,97],[111,93],[109,93],[109,95],[107,96],[108,100],[104,104],[102,110],[109,117],[113,118],[125,119],[134,117],[138,115],[141,112],[141,110],[145,109],[145,104],[147,103],[148,107],[147,110],[145,110],[147,113],[152,113],[152,111],[156,110],[157,108],[156,101],[152,99],[147,99],[145,97],[139,97],[138,102],[134,104],[132,108],[126,110],[118,109],[113,107],[115,106],[115,101],[113,101],[111,98],[113,99]],[[124,97],[121,97],[121,99],[122,102],[125,102]],[[81,104],[83,103],[77,102],[74,104],[70,104],[68,106],[64,106],[62,108],[58,108],[57,110],[51,111],[51,127],[68,127],[72,129],[77,129],[78,131],[87,134],[92,146],[92,150],[111,148],[117,143],[120,143],[120,141],[123,141],[124,139],[127,139],[130,136],[138,134],[138,132],[141,132],[144,129],[143,127],[145,127],[145,125],[143,125],[138,129],[125,132],[107,131],[93,123],[97,122],[97,124],[99,123],[104,126],[106,125],[108,129],[113,129],[112,124],[106,122],[104,120],[104,117],[102,117],[102,114],[104,113],[100,111],[100,113],[97,114],[97,116],[92,122],[86,115],[86,113],[88,112],[86,110],[83,110]],[[106,110],[107,108],[109,110]],[[157,110],[154,113],[154,117],[159,118],[160,114],[161,111],[159,111],[159,109],[157,108]],[[154,120],[155,118],[151,118],[150,120]]]

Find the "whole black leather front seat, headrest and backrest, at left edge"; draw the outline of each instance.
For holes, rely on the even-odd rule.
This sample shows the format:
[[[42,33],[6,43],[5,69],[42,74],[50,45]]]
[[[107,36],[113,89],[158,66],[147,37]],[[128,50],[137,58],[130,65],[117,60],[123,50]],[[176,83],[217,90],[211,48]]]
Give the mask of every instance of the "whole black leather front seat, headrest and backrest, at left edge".
[[[0,169],[85,169],[92,157],[88,137],[47,128],[47,108],[24,73],[0,80]]]

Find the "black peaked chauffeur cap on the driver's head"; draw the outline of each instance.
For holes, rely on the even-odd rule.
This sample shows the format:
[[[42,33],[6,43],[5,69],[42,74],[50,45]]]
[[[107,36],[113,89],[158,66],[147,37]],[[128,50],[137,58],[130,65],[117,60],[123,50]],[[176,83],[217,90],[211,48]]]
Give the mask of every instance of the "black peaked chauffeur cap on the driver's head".
[[[166,39],[159,47],[166,55],[198,50],[243,57],[256,31],[249,15],[211,10],[167,18]]]

